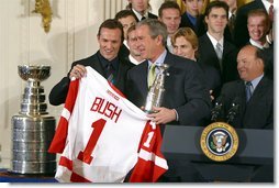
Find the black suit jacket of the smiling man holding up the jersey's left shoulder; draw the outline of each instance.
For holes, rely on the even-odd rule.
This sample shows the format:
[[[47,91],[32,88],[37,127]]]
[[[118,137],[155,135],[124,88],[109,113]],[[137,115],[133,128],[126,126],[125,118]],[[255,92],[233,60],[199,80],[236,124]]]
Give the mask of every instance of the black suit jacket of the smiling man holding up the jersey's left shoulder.
[[[83,65],[83,66],[90,66],[92,67],[94,70],[97,70],[100,75],[105,77],[105,70],[102,68],[101,62],[98,58],[98,54],[99,51],[88,57],[88,58],[83,58],[81,60],[77,60],[71,64],[71,68],[77,64]],[[132,68],[134,65],[130,62],[126,62],[125,59],[123,59],[120,55],[120,62],[119,62],[119,70],[118,70],[118,76],[116,76],[116,80],[114,86],[121,90],[122,92],[124,91],[124,87],[125,87],[125,78],[126,78],[126,71]],[[69,73],[70,73],[69,70]],[[68,88],[69,88],[69,73],[66,77],[64,77],[57,85],[55,85],[53,87],[53,89],[51,90],[51,93],[48,96],[49,99],[49,103],[53,106],[59,106],[62,103],[65,102],[67,93],[68,93]]]

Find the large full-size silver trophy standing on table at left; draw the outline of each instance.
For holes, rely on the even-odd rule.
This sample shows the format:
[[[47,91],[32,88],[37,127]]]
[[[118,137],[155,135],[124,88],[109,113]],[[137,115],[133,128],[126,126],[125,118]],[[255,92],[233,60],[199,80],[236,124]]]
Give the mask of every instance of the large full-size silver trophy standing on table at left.
[[[11,173],[54,174],[56,155],[47,153],[55,133],[55,118],[47,115],[44,87],[40,81],[51,75],[51,66],[19,66],[20,77],[27,81],[21,111],[12,117]]]

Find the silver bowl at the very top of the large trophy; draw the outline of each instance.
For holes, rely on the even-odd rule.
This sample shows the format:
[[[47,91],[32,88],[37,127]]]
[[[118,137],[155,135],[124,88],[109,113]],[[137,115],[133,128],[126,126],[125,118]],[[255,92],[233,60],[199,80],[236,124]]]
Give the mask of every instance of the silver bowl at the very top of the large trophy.
[[[43,81],[51,76],[51,66],[45,65],[19,65],[18,71],[20,77],[27,81],[36,80]]]

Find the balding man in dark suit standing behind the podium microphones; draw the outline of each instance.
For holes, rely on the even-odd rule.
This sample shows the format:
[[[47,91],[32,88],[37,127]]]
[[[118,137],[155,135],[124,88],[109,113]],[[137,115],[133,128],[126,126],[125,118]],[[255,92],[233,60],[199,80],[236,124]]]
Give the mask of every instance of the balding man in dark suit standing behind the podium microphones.
[[[265,64],[265,54],[256,46],[246,45],[238,53],[237,69],[242,80],[224,85],[221,92],[224,114],[233,100],[239,104],[239,113],[231,123],[234,128],[274,128],[274,81],[264,74]],[[246,86],[249,82],[252,86]]]

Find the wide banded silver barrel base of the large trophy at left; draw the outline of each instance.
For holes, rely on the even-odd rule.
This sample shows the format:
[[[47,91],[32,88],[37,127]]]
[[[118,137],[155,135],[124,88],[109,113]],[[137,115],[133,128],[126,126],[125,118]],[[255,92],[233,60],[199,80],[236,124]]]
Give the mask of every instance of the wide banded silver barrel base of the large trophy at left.
[[[56,155],[47,153],[55,132],[49,115],[13,115],[12,162],[10,173],[54,174]]]

